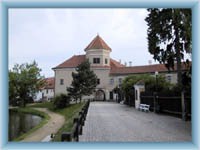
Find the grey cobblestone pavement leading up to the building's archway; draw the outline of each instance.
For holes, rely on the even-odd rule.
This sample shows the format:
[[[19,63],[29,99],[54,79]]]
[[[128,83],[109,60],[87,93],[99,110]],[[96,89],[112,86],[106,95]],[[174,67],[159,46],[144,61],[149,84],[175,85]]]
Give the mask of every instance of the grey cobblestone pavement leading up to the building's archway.
[[[191,141],[191,122],[114,102],[91,102],[81,142]]]

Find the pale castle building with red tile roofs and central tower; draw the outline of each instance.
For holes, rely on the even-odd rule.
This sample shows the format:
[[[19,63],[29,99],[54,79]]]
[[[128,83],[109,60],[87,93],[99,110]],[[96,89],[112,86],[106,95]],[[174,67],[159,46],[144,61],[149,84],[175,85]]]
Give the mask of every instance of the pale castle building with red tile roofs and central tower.
[[[171,83],[177,81],[177,74],[175,72],[168,73],[168,70],[162,64],[127,67],[110,58],[112,49],[99,35],[84,50],[84,55],[74,55],[53,68],[55,72],[55,95],[67,94],[67,87],[72,82],[72,72],[75,72],[75,68],[86,59],[89,60],[91,69],[98,77],[99,84],[96,87],[96,92],[90,97],[96,100],[116,99],[113,89],[119,86],[125,77],[132,74],[153,75],[158,71],[159,74],[166,76],[166,79]]]

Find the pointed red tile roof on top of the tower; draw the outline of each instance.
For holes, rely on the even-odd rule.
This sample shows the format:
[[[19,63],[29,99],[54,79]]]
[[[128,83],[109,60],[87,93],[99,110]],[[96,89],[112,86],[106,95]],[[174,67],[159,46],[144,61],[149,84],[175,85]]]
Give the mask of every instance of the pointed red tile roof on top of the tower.
[[[90,49],[106,49],[111,51],[111,48],[99,35],[92,40],[92,42],[85,48],[85,51]]]

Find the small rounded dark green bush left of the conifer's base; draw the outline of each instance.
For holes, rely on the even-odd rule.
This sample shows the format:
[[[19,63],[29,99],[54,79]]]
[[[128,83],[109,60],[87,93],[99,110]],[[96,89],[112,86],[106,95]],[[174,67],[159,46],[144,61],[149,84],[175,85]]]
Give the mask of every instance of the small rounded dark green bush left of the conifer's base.
[[[53,105],[55,109],[65,108],[69,106],[69,102],[70,102],[70,96],[65,94],[60,94],[54,98]]]

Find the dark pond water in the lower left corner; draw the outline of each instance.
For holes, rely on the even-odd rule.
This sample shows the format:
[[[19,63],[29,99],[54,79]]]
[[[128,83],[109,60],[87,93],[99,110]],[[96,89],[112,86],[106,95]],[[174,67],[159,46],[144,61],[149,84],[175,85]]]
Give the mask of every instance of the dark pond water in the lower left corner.
[[[42,118],[32,114],[9,110],[9,141],[28,132],[41,122]]]

